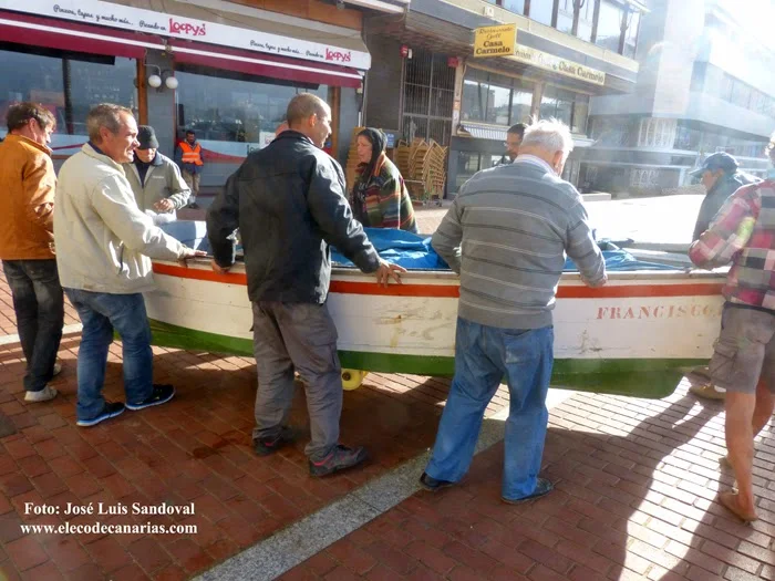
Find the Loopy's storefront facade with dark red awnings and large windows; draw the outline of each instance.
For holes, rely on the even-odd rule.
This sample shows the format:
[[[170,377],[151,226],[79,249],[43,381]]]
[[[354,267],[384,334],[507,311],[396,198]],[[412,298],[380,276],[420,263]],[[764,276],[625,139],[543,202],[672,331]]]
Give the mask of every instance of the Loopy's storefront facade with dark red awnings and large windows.
[[[220,186],[273,137],[288,101],[312,92],[333,110],[327,149],[347,155],[372,62],[363,15],[400,14],[406,1],[167,0],[159,11],[151,0],[0,0],[0,113],[18,101],[45,104],[61,163],[87,141],[91,106],[125,105],[168,156],[195,131],[203,186]]]

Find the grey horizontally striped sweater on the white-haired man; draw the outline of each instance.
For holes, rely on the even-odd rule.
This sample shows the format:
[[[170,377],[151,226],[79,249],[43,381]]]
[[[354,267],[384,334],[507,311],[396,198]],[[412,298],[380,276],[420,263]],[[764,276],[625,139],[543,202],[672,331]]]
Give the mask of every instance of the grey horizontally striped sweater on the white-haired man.
[[[526,160],[474,175],[432,243],[461,274],[458,315],[489,326],[550,325],[566,253],[588,283],[606,277],[579,193]]]

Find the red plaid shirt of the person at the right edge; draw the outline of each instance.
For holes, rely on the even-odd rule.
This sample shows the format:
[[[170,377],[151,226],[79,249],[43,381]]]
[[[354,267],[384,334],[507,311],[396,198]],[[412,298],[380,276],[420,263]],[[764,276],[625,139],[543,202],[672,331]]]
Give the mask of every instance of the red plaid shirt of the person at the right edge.
[[[726,300],[775,311],[775,180],[730,196],[689,257],[700,268],[732,262],[722,291]]]

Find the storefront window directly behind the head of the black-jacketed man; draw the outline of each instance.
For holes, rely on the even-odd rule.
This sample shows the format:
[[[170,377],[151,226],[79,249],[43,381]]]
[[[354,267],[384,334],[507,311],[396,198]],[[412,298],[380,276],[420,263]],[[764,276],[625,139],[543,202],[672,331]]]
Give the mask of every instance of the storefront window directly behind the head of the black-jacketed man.
[[[310,92],[328,98],[326,85],[275,84],[239,73],[188,68],[175,76],[179,136],[194,129],[204,148],[227,156],[245,157],[267,145],[294,95]]]

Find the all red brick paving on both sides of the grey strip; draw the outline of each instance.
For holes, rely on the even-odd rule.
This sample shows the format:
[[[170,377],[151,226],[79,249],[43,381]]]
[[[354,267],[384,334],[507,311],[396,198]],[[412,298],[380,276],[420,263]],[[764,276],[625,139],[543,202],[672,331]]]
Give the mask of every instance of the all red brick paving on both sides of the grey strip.
[[[0,279],[3,333],[8,290]],[[72,314],[72,313],[71,313]],[[363,469],[308,477],[302,444],[276,457],[249,448],[255,393],[250,360],[156,350],[156,377],[173,403],[91,429],[74,425],[78,336],[60,353],[56,401],[22,402],[18,344],[0,346],[0,413],[18,433],[0,439],[0,579],[187,579],[314,511],[430,446],[448,382],[370,375],[345,394],[343,435],[370,446]],[[111,350],[106,395],[122,400],[121,345]],[[685,385],[664,401],[577,394],[555,408],[546,474],[551,496],[499,500],[503,446],[479,455],[464,483],[418,492],[283,579],[775,580],[775,439],[756,446],[761,520],[746,527],[714,501],[733,483],[720,469],[723,408]],[[500,393],[490,412],[502,408]],[[292,419],[304,423],[298,394]],[[364,422],[368,418],[368,422]],[[24,502],[63,506],[194,501],[196,516],[108,517],[106,523],[196,523],[190,536],[22,536]],[[95,519],[80,517],[75,523]],[[4,575],[4,577],[3,577]]]

